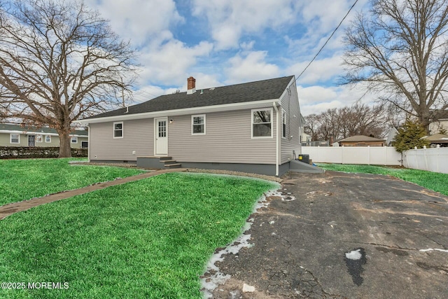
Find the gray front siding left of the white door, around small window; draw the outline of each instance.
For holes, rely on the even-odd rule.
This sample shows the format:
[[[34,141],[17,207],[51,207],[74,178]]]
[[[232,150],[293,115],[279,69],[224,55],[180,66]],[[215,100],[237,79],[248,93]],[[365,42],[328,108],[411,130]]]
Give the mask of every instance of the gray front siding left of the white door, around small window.
[[[90,124],[90,160],[136,161],[137,156],[154,155],[153,118],[125,120],[123,138],[118,139],[113,138],[113,123]]]

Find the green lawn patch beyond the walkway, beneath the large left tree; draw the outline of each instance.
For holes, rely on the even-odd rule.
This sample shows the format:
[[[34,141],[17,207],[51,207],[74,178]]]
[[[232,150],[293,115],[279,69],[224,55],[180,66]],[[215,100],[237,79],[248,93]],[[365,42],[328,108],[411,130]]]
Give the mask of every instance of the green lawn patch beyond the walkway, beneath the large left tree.
[[[0,205],[143,172],[122,167],[69,165],[70,160],[82,159],[0,160]]]

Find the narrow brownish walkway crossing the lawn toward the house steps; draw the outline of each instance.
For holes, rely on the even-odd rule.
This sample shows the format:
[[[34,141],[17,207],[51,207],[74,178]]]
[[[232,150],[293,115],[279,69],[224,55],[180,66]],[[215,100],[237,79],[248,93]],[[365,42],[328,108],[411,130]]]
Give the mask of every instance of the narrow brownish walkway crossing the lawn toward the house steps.
[[[146,179],[151,176],[158,176],[159,174],[167,174],[169,172],[185,172],[184,168],[176,168],[176,169],[162,169],[155,172],[145,172],[144,174],[138,174],[137,176],[129,176],[124,179],[116,179],[114,181],[106,181],[104,183],[97,183],[92,186],[87,186],[84,188],[79,188],[75,190],[62,191],[59,193],[54,193],[50,195],[46,195],[43,197],[33,198],[31,200],[24,200],[22,202],[13,202],[10,204],[5,204],[0,207],[0,220],[14,213],[18,213],[20,211],[26,211],[27,209],[31,209],[32,207],[40,206],[41,204],[47,204],[48,202],[55,202],[57,200],[64,200],[69,197],[73,197],[76,195],[81,195],[84,193],[89,193],[94,190],[101,190],[110,186],[121,185],[122,183],[129,183],[130,181],[139,181],[141,179]]]

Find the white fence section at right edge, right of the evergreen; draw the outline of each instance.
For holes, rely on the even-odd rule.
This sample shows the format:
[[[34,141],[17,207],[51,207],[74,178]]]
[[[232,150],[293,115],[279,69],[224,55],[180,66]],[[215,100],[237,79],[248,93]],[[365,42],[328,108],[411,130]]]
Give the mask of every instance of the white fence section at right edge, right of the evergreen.
[[[419,148],[405,151],[403,166],[448,174],[448,148]]]

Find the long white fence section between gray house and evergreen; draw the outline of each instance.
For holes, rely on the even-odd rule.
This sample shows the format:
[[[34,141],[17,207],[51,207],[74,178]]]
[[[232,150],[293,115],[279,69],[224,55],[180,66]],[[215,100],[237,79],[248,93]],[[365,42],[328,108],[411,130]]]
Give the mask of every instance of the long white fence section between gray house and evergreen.
[[[313,162],[400,165],[401,155],[391,146],[302,146]]]

